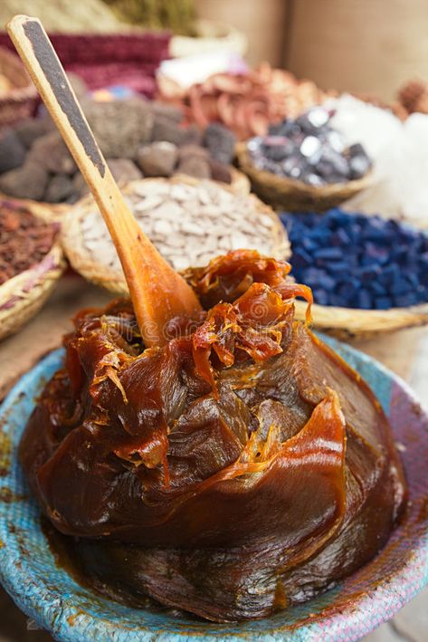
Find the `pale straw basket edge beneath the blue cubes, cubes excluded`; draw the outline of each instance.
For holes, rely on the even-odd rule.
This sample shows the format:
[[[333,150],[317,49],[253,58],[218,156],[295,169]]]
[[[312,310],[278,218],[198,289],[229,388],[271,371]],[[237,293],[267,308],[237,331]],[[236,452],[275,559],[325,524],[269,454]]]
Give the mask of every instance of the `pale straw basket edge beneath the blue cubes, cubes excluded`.
[[[306,302],[296,302],[297,319],[304,320],[306,308]],[[428,303],[391,310],[357,310],[315,304],[312,321],[315,328],[338,339],[364,339],[380,332],[425,325],[428,323]]]

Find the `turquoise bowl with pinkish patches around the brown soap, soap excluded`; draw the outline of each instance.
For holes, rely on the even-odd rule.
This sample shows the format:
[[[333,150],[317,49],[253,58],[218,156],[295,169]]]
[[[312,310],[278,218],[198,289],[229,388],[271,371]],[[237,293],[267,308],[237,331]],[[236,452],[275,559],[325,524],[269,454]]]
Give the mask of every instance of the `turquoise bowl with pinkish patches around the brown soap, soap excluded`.
[[[375,360],[328,340],[376,392],[402,451],[410,489],[404,521],[376,559],[318,599],[275,617],[218,625],[176,613],[128,608],[81,587],[55,561],[29,495],[16,447],[34,398],[59,367],[48,355],[14,387],[0,416],[0,580],[19,608],[70,642],[357,640],[412,599],[428,580],[428,417],[404,382]]]

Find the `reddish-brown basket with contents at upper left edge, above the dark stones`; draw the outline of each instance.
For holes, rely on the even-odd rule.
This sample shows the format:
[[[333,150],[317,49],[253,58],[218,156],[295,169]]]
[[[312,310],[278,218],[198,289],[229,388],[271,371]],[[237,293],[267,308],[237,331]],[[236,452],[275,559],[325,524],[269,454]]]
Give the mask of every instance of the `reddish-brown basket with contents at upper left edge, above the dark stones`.
[[[33,114],[38,100],[37,91],[14,53],[0,48],[0,73],[13,84],[13,89],[0,94],[0,128],[13,125]]]

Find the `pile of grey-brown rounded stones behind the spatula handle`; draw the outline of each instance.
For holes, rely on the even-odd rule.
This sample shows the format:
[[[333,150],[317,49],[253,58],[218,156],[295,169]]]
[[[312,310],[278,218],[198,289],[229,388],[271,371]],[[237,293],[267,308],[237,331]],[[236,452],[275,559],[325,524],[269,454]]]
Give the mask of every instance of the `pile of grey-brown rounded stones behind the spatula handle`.
[[[248,178],[231,165],[235,138],[222,125],[183,127],[180,110],[138,96],[123,101],[85,99],[84,107],[117,180],[185,174],[213,178],[238,194],[250,191]],[[0,190],[15,198],[70,204],[88,188],[45,116],[21,120],[0,132]]]

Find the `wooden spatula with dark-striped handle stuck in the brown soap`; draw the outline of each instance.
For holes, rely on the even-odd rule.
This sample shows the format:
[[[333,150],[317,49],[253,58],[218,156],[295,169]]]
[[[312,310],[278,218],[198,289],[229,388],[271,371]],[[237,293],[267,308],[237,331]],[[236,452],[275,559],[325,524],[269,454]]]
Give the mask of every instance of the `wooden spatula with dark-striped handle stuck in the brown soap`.
[[[100,207],[146,346],[166,343],[167,321],[191,317],[201,309],[195,292],[157,252],[129,211],[40,20],[15,15],[6,29]]]

